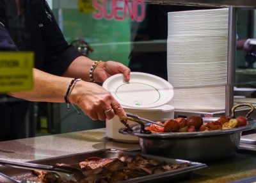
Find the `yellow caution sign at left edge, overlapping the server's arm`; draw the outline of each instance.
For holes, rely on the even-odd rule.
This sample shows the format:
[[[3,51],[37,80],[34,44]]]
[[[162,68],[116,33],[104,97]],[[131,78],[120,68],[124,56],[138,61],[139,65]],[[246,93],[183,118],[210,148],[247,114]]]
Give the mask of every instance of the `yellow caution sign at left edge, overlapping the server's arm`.
[[[0,93],[32,90],[33,67],[33,52],[0,52]]]

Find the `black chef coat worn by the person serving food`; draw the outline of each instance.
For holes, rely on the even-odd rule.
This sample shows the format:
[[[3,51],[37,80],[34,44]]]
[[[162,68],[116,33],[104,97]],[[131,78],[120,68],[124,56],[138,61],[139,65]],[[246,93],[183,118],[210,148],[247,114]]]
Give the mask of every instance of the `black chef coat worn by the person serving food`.
[[[0,52],[33,51],[35,68],[61,76],[82,54],[65,41],[45,0],[0,0]],[[0,141],[22,138],[29,102],[0,102]]]

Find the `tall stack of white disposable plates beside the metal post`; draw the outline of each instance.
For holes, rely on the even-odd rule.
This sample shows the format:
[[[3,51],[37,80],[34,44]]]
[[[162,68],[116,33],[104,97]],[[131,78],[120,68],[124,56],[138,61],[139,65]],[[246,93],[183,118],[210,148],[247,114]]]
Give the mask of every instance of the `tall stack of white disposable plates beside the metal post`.
[[[168,81],[175,109],[225,109],[228,8],[168,13]]]

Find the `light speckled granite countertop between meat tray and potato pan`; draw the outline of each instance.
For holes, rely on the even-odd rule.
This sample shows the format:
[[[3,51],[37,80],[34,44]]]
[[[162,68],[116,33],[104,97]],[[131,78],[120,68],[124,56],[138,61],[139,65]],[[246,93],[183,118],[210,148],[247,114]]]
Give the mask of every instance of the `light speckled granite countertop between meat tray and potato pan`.
[[[119,143],[106,138],[106,129],[70,132],[35,138],[0,141],[0,157],[14,161],[32,161],[104,148],[140,148],[138,143]]]

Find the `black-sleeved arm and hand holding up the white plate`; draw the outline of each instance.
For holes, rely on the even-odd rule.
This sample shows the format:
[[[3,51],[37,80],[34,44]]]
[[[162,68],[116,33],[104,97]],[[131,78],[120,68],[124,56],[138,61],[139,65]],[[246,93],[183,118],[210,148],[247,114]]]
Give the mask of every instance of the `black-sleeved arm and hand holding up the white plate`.
[[[36,11],[38,6],[35,6],[32,13],[38,14],[38,19],[44,24],[41,32],[48,52],[45,72],[64,77],[81,77],[84,81],[90,81],[89,73],[94,60],[83,56],[67,44],[47,2],[42,1],[42,3],[44,3],[41,4],[44,8],[40,8],[42,12],[38,14],[40,11]],[[93,79],[102,83],[109,76],[118,73],[123,73],[124,79],[129,81],[128,67],[115,61],[106,61],[95,69]]]

